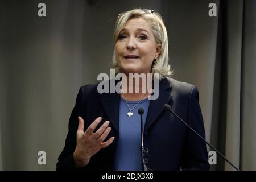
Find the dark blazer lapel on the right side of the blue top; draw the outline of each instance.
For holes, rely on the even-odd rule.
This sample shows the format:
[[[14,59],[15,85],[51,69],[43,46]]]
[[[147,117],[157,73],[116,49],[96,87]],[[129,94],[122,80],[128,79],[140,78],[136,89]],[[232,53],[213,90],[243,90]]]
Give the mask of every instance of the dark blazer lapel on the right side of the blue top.
[[[158,116],[162,113],[163,105],[168,104],[168,102],[171,100],[171,89],[172,85],[167,80],[167,78],[163,78],[159,82],[159,96],[158,99],[150,101],[144,131],[147,131],[147,129],[155,122]]]

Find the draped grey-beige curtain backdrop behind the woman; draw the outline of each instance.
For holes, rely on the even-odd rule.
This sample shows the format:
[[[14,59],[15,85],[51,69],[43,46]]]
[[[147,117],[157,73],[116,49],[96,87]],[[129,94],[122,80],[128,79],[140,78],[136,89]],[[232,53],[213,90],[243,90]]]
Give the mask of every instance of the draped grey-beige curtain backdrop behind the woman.
[[[256,1],[46,0],[39,18],[40,2],[0,2],[0,169],[56,169],[79,87],[111,68],[115,18],[142,7],[163,16],[174,78],[199,88],[207,140],[256,170]]]

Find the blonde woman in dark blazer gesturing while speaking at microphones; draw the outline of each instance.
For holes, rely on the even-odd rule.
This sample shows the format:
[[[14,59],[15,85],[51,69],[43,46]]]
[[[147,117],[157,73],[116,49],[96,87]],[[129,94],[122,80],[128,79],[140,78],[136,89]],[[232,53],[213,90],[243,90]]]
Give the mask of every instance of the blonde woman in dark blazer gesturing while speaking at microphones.
[[[134,9],[119,14],[114,30],[113,64],[116,73],[152,73],[159,81],[157,99],[139,84],[139,92],[98,93],[97,85],[82,86],[69,119],[69,131],[57,169],[208,170],[205,143],[168,111],[172,110],[205,138],[196,86],[172,79],[168,64],[168,37],[160,14]],[[126,90],[127,91],[127,90]],[[134,91],[134,90],[133,90]],[[144,155],[141,157],[143,108]]]

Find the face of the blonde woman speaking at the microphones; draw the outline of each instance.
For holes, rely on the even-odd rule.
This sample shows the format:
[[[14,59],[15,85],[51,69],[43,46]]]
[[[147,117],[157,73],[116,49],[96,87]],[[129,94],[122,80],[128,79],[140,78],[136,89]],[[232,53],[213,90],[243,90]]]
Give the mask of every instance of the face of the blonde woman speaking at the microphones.
[[[151,73],[152,61],[159,56],[150,24],[143,18],[127,21],[115,43],[115,57],[123,73]]]

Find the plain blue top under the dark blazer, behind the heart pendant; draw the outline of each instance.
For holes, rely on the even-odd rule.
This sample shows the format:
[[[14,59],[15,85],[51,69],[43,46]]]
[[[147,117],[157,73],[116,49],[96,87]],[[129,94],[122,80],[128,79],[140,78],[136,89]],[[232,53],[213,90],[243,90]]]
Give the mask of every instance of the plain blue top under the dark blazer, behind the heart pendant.
[[[130,109],[139,101],[127,101]],[[138,109],[143,108],[143,129],[145,126],[148,106],[150,100],[141,100],[132,110],[133,116],[128,117],[129,112],[126,101],[120,98],[119,104],[119,139],[115,152],[114,170],[115,171],[141,171],[141,117]]]

